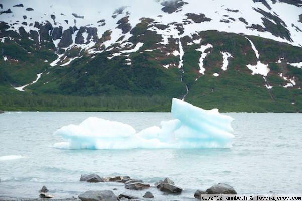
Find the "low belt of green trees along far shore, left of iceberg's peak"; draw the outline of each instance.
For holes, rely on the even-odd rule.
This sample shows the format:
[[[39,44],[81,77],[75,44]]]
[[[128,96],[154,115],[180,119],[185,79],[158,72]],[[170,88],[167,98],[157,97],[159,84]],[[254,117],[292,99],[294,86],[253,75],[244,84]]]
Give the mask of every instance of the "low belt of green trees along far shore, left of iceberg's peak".
[[[66,96],[0,95],[3,111],[121,111],[168,112],[171,99],[166,96]]]

